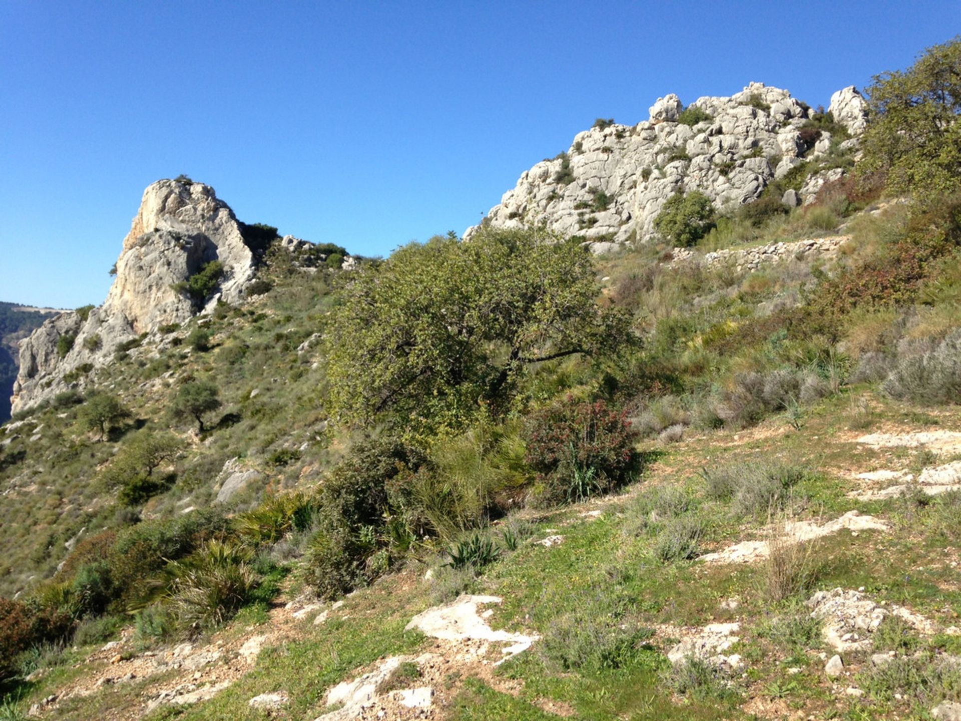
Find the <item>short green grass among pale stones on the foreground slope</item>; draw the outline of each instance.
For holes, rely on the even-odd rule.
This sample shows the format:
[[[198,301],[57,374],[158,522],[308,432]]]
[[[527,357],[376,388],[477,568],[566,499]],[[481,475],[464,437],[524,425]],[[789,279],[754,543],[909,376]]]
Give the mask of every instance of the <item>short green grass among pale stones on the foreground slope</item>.
[[[865,392],[855,388],[852,392]],[[844,687],[855,684],[853,676],[836,687],[823,673],[825,650],[800,601],[812,590],[841,586],[866,591],[879,601],[895,602],[945,623],[961,612],[961,590],[950,561],[957,560],[957,540],[937,533],[930,525],[937,504],[918,508],[900,499],[856,504],[844,497],[850,479],[839,475],[840,467],[873,465],[909,466],[909,454],[873,451],[853,442],[868,430],[851,431],[848,399],[838,398],[812,410],[801,431],[771,421],[741,435],[715,432],[671,447],[649,467],[641,483],[617,498],[533,516],[532,538],[549,529],[565,536],[554,548],[530,540],[515,553],[489,566],[468,589],[504,597],[492,624],[511,630],[535,631],[546,640],[526,654],[509,661],[498,671],[505,680],[520,682],[516,695],[494,690],[480,680],[452,680],[450,693],[438,692],[444,713],[457,719],[550,718],[541,707],[573,710],[578,718],[748,718],[751,713],[777,718],[792,710],[817,718],[888,718],[893,712],[909,713],[916,700],[862,699],[848,697]],[[901,404],[880,402],[870,430],[919,428],[917,410]],[[931,416],[929,428],[961,430],[954,414]],[[626,535],[635,520],[635,497],[662,485],[682,485],[700,499],[696,510],[707,522],[704,548],[720,547],[742,537],[756,537],[763,518],[737,519],[724,504],[708,502],[698,470],[719,462],[754,462],[759,455],[783,456],[821,473],[796,488],[796,510],[801,518],[836,517],[860,508],[892,522],[894,532],[883,535],[842,532],[816,544],[816,575],[798,596],[774,603],[764,592],[765,566],[707,566],[700,561],[661,562],[653,558],[655,535]],[[892,458],[895,456],[896,458]],[[897,458],[900,456],[900,458]],[[586,510],[601,510],[585,516]],[[353,678],[357,668],[386,655],[430,647],[419,634],[405,634],[407,620],[437,600],[437,584],[424,581],[423,567],[415,566],[387,577],[374,587],[349,598],[337,620],[314,627],[309,619],[299,627],[298,640],[265,652],[254,670],[214,699],[188,709],[178,709],[185,719],[255,719],[247,700],[259,693],[285,690],[290,703],[275,717],[312,718],[323,709],[323,696],[334,683]],[[734,692],[717,687],[702,689],[703,697],[673,696],[664,682],[667,668],[663,653],[669,639],[655,637],[622,668],[581,668],[564,672],[545,651],[558,629],[573,615],[589,619],[612,597],[628,600],[631,614],[646,626],[659,624],[702,626],[717,621],[742,623],[741,641],[733,649],[748,660],[746,677],[734,680]],[[722,600],[736,597],[737,609],[722,609]],[[234,622],[241,632],[246,619]],[[230,630],[226,633],[231,633]],[[957,637],[939,636],[926,643],[958,653]],[[867,665],[865,654],[846,654],[851,674]],[[801,667],[788,675],[789,666]],[[75,675],[74,669],[48,677],[34,688],[28,701],[36,700]],[[62,706],[72,718],[99,718],[106,708],[116,709],[120,696],[133,704],[140,689],[105,690],[92,697]],[[717,694],[717,695],[714,695]],[[915,708],[916,712],[923,709]],[[153,718],[167,717],[169,711]],[[835,714],[832,716],[831,714]]]

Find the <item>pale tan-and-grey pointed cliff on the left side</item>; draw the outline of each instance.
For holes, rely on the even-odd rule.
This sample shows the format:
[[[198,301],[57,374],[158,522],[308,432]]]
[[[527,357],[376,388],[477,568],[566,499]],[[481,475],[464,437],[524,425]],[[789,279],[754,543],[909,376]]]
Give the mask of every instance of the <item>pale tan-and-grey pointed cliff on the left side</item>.
[[[117,343],[190,318],[197,301],[177,286],[210,261],[220,261],[224,274],[200,310],[218,299],[242,300],[255,259],[241,227],[210,186],[171,180],[149,186],[124,238],[104,305],[62,313],[21,341],[12,410],[84,385],[86,374],[108,362]]]

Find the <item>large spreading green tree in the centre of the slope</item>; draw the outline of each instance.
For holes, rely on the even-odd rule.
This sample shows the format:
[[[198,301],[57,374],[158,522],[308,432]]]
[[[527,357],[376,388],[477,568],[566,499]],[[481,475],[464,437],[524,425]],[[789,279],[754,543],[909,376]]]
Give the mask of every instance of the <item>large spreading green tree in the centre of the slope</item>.
[[[628,318],[598,305],[590,254],[544,231],[411,243],[347,286],[326,336],[332,410],[413,430],[505,412],[530,366],[611,350]]]

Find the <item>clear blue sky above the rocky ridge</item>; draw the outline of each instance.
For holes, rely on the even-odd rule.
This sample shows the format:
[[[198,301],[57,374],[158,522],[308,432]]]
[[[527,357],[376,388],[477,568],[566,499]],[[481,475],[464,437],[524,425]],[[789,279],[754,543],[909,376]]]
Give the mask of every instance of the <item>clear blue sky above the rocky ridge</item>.
[[[598,116],[750,81],[811,105],[953,2],[0,1],[0,300],[99,304],[143,188],[385,255],[462,232]]]

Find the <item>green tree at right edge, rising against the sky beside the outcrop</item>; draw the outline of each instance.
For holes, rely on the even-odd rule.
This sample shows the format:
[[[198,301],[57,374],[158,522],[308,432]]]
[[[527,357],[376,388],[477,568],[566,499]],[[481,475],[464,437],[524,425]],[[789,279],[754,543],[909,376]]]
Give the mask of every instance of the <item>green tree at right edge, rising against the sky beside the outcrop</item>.
[[[887,175],[893,192],[944,193],[961,186],[961,37],[927,48],[906,70],[875,76],[862,172]]]

